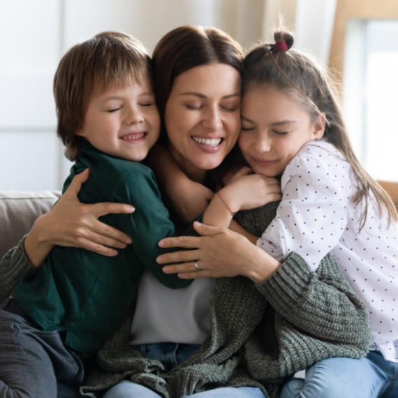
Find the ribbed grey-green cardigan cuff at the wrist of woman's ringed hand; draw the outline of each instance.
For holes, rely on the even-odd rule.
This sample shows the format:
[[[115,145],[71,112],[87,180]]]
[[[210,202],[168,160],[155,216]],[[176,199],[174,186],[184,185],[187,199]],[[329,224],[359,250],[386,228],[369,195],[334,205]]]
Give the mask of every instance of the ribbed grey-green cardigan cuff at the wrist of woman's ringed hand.
[[[300,302],[315,273],[297,253],[290,253],[274,274],[256,287],[277,311],[286,313]]]

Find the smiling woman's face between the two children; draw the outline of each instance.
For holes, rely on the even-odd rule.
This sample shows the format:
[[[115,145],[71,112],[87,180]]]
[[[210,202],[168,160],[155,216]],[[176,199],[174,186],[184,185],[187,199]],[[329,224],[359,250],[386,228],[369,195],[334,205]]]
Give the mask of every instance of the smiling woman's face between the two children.
[[[221,164],[240,131],[241,79],[226,64],[196,66],[175,79],[165,106],[170,152],[196,181]]]

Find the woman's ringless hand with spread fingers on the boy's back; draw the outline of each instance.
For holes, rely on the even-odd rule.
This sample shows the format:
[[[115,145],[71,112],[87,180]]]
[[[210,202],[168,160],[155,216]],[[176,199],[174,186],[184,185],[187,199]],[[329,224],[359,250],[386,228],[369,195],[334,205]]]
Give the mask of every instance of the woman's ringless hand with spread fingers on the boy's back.
[[[76,175],[50,212],[34,223],[24,245],[32,264],[40,265],[54,245],[80,247],[104,256],[116,256],[117,251],[111,248],[124,249],[131,243],[130,237],[101,223],[98,217],[109,213],[129,214],[134,212],[134,207],[111,202],[80,203],[78,193],[88,177],[88,169]]]

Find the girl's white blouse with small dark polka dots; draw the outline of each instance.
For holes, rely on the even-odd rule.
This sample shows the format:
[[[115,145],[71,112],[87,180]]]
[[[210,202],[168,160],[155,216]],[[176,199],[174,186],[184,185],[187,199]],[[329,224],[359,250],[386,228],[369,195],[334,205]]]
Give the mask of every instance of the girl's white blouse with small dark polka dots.
[[[257,246],[277,260],[291,251],[312,271],[332,251],[369,311],[371,349],[398,362],[398,235],[378,214],[371,196],[360,230],[364,201],[353,203],[357,184],[351,165],[333,145],[309,142],[287,165],[277,215]]]

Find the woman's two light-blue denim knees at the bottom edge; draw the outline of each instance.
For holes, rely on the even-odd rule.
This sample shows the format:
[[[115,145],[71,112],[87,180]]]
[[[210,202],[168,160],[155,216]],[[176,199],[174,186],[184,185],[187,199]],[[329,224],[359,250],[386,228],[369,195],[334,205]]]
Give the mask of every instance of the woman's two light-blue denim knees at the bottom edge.
[[[260,388],[256,387],[221,387],[182,398],[265,398]],[[121,381],[110,388],[103,398],[161,398],[159,394],[131,381]]]

